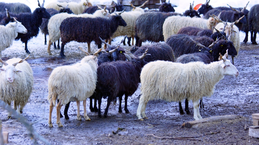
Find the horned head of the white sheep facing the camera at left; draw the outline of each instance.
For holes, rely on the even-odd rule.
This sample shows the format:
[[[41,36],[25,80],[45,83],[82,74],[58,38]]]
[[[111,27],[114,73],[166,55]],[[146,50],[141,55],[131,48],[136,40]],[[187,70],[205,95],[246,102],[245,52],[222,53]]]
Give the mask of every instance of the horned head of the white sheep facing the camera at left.
[[[30,56],[30,55],[29,55],[29,56]],[[28,56],[28,57],[29,57],[29,56]],[[12,83],[13,80],[16,78],[16,73],[21,73],[21,72],[23,72],[23,71],[21,71],[21,70],[17,70],[17,69],[15,68],[15,66],[16,66],[18,63],[24,62],[28,57],[26,57],[26,58],[20,60],[19,62],[14,63],[14,64],[12,64],[12,65],[9,65],[8,63],[6,63],[6,62],[4,62],[2,59],[0,59],[0,62],[2,62],[2,63],[4,64],[4,66],[0,68],[0,72],[1,72],[1,71],[5,72],[5,78],[6,78],[7,81],[9,81],[10,83]]]

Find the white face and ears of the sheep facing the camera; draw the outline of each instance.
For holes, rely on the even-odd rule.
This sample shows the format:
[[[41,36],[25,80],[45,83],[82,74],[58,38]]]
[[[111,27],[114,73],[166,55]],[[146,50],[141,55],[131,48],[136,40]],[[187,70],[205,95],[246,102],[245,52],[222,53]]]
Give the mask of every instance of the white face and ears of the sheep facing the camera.
[[[3,66],[2,68],[0,68],[0,71],[5,72],[5,78],[10,83],[12,83],[13,80],[16,78],[16,73],[22,72],[20,70],[17,70],[13,65],[6,65],[5,67]]]

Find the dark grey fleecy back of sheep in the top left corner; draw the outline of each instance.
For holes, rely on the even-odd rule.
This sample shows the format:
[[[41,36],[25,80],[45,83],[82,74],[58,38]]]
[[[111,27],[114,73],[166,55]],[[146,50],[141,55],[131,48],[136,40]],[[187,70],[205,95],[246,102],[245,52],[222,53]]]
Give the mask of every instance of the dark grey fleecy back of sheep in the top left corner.
[[[31,13],[30,7],[22,3],[0,3],[0,12],[5,13],[5,8],[7,8],[11,13]]]

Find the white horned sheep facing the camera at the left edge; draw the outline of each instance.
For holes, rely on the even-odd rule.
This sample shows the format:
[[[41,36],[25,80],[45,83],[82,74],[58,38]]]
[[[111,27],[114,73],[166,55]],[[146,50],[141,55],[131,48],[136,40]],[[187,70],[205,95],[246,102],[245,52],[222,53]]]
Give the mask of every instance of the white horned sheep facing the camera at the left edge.
[[[25,59],[11,58],[6,62],[0,59],[4,64],[0,68],[0,99],[9,106],[14,101],[13,109],[19,114],[23,113],[33,87],[32,69]],[[7,118],[11,118],[11,113],[8,113]]]

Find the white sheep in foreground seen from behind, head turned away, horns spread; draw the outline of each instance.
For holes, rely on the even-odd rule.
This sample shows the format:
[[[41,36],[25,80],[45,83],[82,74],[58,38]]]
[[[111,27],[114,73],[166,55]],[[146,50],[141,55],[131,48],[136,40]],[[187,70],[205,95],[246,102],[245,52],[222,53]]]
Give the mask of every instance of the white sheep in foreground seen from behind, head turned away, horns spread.
[[[91,120],[86,113],[86,99],[91,97],[95,90],[98,68],[96,55],[102,48],[95,52],[94,55],[90,55],[81,47],[80,49],[88,56],[85,56],[79,63],[56,67],[49,76],[49,127],[53,127],[51,117],[57,99],[59,99],[59,103],[56,107],[58,112],[57,124],[59,127],[63,126],[60,122],[60,109],[62,105],[65,105],[70,101],[76,101],[77,120],[81,120],[80,101],[83,101],[85,120]]]

